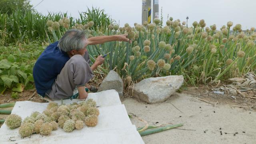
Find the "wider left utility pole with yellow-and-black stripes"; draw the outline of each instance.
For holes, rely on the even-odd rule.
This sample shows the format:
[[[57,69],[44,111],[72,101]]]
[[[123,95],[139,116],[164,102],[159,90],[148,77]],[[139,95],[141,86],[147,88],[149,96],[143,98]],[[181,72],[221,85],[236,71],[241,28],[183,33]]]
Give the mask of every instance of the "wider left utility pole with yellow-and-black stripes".
[[[142,0],[142,22],[151,23],[151,0]]]

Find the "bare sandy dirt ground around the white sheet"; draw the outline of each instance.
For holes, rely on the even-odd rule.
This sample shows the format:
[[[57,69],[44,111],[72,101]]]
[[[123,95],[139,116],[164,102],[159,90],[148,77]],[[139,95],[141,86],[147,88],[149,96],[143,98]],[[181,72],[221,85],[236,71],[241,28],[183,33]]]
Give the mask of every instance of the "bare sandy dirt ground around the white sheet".
[[[156,104],[134,98],[126,98],[122,103],[128,114],[149,125],[184,124],[143,136],[145,144],[256,144],[256,99],[240,95],[232,98],[230,94],[214,94],[210,89],[209,86],[189,87]],[[255,96],[255,92],[248,95]],[[25,90],[17,100],[10,97],[10,92],[0,95],[0,104],[24,100],[45,102],[35,90]],[[0,119],[6,116],[0,115]],[[145,125],[135,116],[131,121],[137,127]]]

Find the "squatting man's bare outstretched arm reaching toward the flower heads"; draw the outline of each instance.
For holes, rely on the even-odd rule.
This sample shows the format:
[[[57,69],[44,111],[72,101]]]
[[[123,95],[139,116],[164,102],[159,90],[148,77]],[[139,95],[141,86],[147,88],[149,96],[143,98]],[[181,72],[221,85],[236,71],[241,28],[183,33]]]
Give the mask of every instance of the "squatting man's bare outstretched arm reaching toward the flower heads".
[[[95,36],[87,39],[87,45],[94,44],[103,44],[104,42],[111,41],[124,41],[129,42],[129,38],[127,38],[127,34],[114,35],[114,36]]]

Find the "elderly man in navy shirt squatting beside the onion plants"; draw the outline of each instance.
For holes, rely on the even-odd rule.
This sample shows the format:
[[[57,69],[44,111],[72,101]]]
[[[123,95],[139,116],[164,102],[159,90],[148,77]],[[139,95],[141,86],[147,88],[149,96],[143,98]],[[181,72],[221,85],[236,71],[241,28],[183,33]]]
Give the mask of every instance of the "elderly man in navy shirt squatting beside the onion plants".
[[[50,44],[35,63],[33,76],[38,94],[48,101],[86,99],[85,86],[93,78],[93,70],[104,62],[104,58],[98,56],[90,66],[86,46],[110,41],[128,42],[129,39],[127,34],[87,39],[81,30],[68,30],[58,42]]]

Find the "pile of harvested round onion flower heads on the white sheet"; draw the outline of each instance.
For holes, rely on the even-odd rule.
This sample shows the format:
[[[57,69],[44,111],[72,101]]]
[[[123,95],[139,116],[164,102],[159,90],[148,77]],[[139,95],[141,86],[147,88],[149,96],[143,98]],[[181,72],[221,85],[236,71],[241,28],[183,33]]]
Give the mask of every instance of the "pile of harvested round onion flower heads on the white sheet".
[[[50,102],[44,112],[33,112],[23,121],[16,114],[11,114],[6,118],[6,125],[10,129],[19,127],[19,134],[23,137],[32,134],[42,134],[48,136],[52,130],[58,127],[65,132],[72,132],[74,129],[82,129],[86,126],[96,126],[100,112],[96,107],[96,102],[92,99],[77,104],[58,106],[56,102]]]

